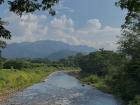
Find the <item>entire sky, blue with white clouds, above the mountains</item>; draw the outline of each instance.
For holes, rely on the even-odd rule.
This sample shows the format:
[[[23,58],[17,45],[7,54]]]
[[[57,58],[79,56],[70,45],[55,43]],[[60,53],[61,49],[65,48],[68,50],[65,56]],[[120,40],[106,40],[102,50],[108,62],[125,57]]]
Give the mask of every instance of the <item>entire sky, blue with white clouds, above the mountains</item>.
[[[56,40],[72,45],[116,50],[125,12],[115,6],[117,0],[60,0],[47,12],[24,14],[22,17],[0,7],[0,16],[9,24],[13,42]]]

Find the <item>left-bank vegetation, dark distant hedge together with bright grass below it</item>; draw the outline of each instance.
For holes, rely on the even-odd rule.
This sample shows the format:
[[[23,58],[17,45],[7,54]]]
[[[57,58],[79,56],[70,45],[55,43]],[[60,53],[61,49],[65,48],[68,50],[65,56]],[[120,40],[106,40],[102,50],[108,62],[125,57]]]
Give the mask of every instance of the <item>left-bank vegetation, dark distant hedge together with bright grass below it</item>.
[[[47,59],[0,59],[0,93],[1,95],[25,88],[55,71],[71,71],[78,68],[63,66],[60,62]]]

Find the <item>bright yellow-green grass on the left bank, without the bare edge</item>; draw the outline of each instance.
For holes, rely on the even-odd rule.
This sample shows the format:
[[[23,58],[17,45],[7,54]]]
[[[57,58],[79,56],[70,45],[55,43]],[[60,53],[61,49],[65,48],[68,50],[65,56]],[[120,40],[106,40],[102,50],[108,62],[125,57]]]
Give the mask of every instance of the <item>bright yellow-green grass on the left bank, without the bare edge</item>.
[[[34,83],[40,82],[55,70],[56,68],[53,67],[39,67],[23,70],[1,69],[0,93],[2,94],[10,90],[25,88]]]

